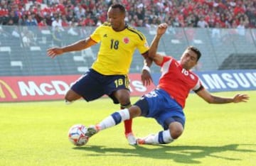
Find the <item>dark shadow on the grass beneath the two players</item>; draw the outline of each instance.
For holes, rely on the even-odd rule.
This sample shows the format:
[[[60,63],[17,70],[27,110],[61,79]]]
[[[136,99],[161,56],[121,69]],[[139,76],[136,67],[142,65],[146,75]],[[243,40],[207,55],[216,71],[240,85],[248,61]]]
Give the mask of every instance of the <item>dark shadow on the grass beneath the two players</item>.
[[[214,154],[227,151],[238,153],[256,153],[256,150],[245,149],[246,146],[256,146],[256,144],[230,144],[223,146],[170,146],[170,145],[137,145],[134,149],[108,148],[105,146],[86,145],[75,147],[75,150],[86,150],[98,154],[88,154],[90,156],[119,155],[126,157],[149,157],[155,159],[171,159],[175,162],[198,164],[198,159],[204,157],[215,157],[224,160],[242,160],[235,157],[225,157],[225,155]],[[239,148],[238,148],[239,147]],[[242,147],[244,149],[242,149]],[[255,149],[255,148],[254,148]],[[114,153],[114,154],[112,154]],[[230,156],[230,155],[229,155]]]

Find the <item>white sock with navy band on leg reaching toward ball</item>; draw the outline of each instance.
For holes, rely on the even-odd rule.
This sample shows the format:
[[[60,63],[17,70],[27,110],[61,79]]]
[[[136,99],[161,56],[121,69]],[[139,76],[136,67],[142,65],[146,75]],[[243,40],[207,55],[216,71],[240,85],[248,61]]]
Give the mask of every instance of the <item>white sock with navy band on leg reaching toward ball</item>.
[[[115,118],[113,118],[115,117]],[[114,112],[112,115],[107,116],[107,118],[103,119],[98,126],[100,127],[100,130],[104,130],[105,128],[110,128],[112,126],[115,126],[119,124],[121,121],[125,121],[129,119],[129,110],[128,109],[122,109],[120,111]]]

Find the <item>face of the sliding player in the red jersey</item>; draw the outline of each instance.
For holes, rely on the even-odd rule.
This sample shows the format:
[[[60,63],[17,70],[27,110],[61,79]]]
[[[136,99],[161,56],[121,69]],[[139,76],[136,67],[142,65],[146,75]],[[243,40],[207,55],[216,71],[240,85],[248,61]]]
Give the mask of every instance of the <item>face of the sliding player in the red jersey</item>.
[[[191,70],[197,64],[197,57],[193,50],[186,50],[181,56],[181,66],[186,70]]]

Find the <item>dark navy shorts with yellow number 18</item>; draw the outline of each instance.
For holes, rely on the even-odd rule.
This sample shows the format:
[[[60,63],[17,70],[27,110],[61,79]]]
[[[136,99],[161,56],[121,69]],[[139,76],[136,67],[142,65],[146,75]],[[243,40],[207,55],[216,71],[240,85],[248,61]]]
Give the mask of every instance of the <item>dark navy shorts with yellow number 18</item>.
[[[102,75],[90,69],[72,85],[71,89],[86,101],[98,99],[106,94],[114,104],[119,104],[113,92],[119,89],[129,90],[129,79],[127,75]]]

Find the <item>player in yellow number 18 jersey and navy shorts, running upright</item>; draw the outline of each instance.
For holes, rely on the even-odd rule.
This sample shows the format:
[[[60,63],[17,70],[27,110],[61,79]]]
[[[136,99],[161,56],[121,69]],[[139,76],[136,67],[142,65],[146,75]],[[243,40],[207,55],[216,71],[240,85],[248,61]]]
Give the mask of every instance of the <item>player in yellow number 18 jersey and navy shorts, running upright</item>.
[[[65,52],[78,51],[100,43],[97,60],[88,72],[82,75],[70,90],[65,94],[65,101],[70,103],[81,97],[86,101],[99,99],[108,95],[114,104],[120,104],[121,109],[129,108],[129,67],[132,62],[134,50],[138,49],[144,57],[142,82],[151,83],[149,67],[152,60],[147,56],[149,45],[145,36],[125,23],[125,8],[121,4],[113,4],[107,12],[108,22],[97,27],[89,38],[63,48],[49,48],[49,57],[56,57]],[[132,119],[124,121],[125,135],[130,144],[136,139],[132,133]]]

